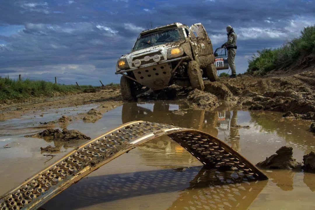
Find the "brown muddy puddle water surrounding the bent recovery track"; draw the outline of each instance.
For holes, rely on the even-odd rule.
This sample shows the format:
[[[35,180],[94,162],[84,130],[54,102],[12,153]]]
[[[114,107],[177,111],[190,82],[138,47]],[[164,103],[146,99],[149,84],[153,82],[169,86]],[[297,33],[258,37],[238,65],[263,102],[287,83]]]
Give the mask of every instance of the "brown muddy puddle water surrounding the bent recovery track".
[[[242,111],[220,106],[215,111],[189,109],[177,102],[125,103],[103,114],[95,123],[82,120],[68,125],[95,138],[118,125],[146,120],[196,128],[231,145],[256,164],[283,145],[293,156],[315,150],[310,122],[282,118],[282,113]],[[0,194],[83,142],[46,142],[25,138],[43,130],[39,122],[76,115],[97,105],[44,113],[34,112],[0,122]],[[184,109],[184,110],[183,110]],[[180,111],[178,111],[180,110]],[[183,111],[182,111],[183,110]],[[58,113],[57,113],[58,112]],[[178,113],[183,115],[178,115]],[[250,128],[233,128],[233,125]],[[58,128],[58,127],[56,127]],[[3,148],[7,145],[10,148]],[[40,147],[63,145],[60,153],[45,157]],[[43,205],[43,209],[314,209],[315,174],[263,170],[269,180],[237,179],[231,171],[204,169],[200,162],[168,137],[151,140],[92,172]]]

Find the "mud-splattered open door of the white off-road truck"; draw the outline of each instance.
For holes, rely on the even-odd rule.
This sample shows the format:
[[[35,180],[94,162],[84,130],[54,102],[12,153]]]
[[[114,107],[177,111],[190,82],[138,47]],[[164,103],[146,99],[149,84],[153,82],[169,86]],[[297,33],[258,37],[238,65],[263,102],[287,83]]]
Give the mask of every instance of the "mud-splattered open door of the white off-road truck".
[[[212,43],[201,23],[190,26],[189,40],[195,60],[201,67],[214,63]]]

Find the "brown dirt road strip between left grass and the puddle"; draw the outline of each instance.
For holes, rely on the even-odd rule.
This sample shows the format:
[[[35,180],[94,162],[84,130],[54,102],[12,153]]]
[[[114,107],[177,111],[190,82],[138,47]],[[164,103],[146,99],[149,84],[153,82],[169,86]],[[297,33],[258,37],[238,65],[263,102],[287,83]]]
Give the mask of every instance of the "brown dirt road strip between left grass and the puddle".
[[[104,103],[106,102],[106,103]],[[83,93],[56,98],[37,99],[27,103],[0,107],[0,121],[19,117],[34,111],[99,103],[101,112],[108,111],[122,104],[119,87],[104,87],[94,93]]]

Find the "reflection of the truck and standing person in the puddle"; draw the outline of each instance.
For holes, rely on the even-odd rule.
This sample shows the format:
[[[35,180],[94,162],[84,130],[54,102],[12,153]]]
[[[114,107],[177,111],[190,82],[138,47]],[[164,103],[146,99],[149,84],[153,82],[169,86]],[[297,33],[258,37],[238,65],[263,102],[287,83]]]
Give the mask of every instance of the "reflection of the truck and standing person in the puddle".
[[[177,106],[177,107],[176,107]],[[184,115],[179,115],[176,110],[184,111]],[[239,150],[239,133],[237,125],[237,111],[232,112],[229,107],[220,106],[215,111],[194,110],[187,104],[171,104],[164,101],[154,103],[125,103],[122,108],[122,122],[133,120],[144,120],[174,124],[184,128],[195,128],[207,132],[215,137],[218,130],[223,131],[225,140],[232,148]],[[231,124],[230,124],[231,123]]]

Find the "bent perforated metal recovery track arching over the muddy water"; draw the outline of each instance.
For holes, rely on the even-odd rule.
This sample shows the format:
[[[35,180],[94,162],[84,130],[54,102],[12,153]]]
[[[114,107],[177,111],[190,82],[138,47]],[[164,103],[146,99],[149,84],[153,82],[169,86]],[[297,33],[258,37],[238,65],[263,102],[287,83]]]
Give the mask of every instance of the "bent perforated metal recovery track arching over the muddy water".
[[[0,210],[37,209],[84,176],[136,146],[168,135],[203,165],[234,170],[251,179],[268,177],[221,140],[195,129],[133,121],[68,153],[0,197]]]

